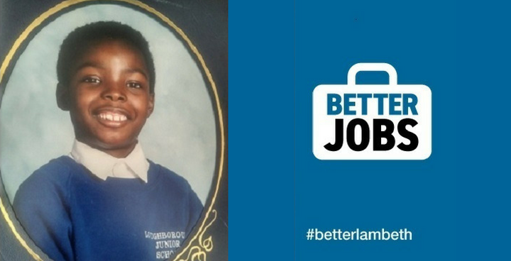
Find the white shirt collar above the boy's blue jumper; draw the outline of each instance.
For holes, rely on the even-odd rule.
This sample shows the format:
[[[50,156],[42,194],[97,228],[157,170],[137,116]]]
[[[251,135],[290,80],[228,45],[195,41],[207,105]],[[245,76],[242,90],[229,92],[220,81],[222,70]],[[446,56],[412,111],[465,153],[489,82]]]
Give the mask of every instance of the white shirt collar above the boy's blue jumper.
[[[137,143],[127,157],[117,158],[75,140],[71,157],[103,180],[107,177],[121,177],[140,178],[145,183],[148,182],[149,162],[140,143]]]

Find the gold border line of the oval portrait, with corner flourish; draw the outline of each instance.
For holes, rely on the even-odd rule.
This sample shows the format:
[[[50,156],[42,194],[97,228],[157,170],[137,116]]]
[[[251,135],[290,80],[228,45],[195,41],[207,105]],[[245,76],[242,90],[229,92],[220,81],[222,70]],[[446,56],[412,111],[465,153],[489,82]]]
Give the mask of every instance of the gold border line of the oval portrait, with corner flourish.
[[[43,23],[43,21],[45,21],[46,19],[50,18],[50,16],[55,15],[55,13],[62,11],[63,9],[66,9],[70,6],[74,6],[75,4],[81,4],[84,2],[92,2],[92,1],[101,2],[101,1],[105,1],[105,0],[67,0],[67,1],[62,1],[60,4],[57,4],[56,6],[53,6],[48,11],[45,11],[43,14],[38,16],[38,18],[35,18],[35,20],[25,30],[23,30],[23,33],[21,33],[21,35],[16,39],[16,41],[13,44],[13,47],[7,53],[4,62],[2,62],[1,67],[0,67],[0,82],[2,82],[2,79],[4,79],[4,74],[6,72],[6,69],[9,66],[14,54],[20,47],[21,43],[23,43],[23,41],[25,41],[26,38],[28,38],[28,35],[30,35],[30,33],[35,28],[40,26],[40,24]],[[219,126],[220,126],[220,159],[219,159],[218,179],[216,179],[216,187],[215,187],[214,194],[211,196],[211,204],[209,204],[209,208],[207,209],[207,212],[204,216],[202,223],[199,226],[199,229],[196,231],[196,233],[194,233],[192,238],[188,238],[189,241],[188,241],[188,244],[185,246],[185,248],[181,248],[180,251],[177,252],[177,255],[175,255],[175,257],[174,257],[174,261],[189,260],[189,257],[192,254],[192,252],[194,252],[194,250],[199,250],[201,253],[200,256],[205,257],[205,252],[202,251],[200,248],[204,248],[207,252],[209,252],[213,248],[213,245],[212,245],[213,243],[212,243],[211,236],[209,236],[209,238],[207,238],[207,240],[204,240],[204,241],[202,241],[202,236],[204,235],[204,232],[206,232],[207,228],[209,228],[209,226],[211,226],[211,223],[213,223],[216,220],[216,210],[213,209],[213,205],[216,201],[216,195],[218,194],[218,191],[219,191],[220,180],[222,177],[222,172],[224,171],[224,157],[225,157],[224,116],[222,114],[220,99],[219,99],[218,91],[216,90],[216,84],[213,80],[213,77],[211,76],[211,72],[209,72],[206,62],[204,62],[202,55],[199,53],[199,50],[197,50],[195,45],[192,43],[191,40],[189,40],[188,36],[181,30],[181,28],[177,27],[175,25],[175,23],[170,21],[170,19],[167,18],[166,16],[164,16],[163,13],[160,13],[159,11],[156,11],[152,7],[148,6],[147,4],[144,4],[144,3],[140,2],[140,1],[136,1],[136,0],[108,0],[108,1],[109,2],[117,1],[117,2],[121,2],[121,3],[132,4],[133,6],[138,6],[139,8],[144,9],[145,11],[148,11],[149,13],[153,13],[153,15],[157,16],[163,22],[165,22],[168,26],[170,26],[172,29],[174,29],[182,37],[182,39],[185,40],[185,42],[188,44],[190,50],[192,50],[194,55],[197,56],[197,59],[199,60],[200,64],[202,65],[202,68],[204,69],[204,73],[206,74],[207,79],[209,80],[209,83],[211,84],[211,89],[214,94],[214,100],[216,102],[216,109],[218,112]],[[2,216],[4,216],[7,224],[11,228],[11,231],[13,231],[14,235],[16,236],[16,239],[18,239],[19,243],[21,243],[23,248],[25,248],[27,250],[27,252],[34,258],[34,260],[43,261],[43,259],[41,259],[41,257],[38,254],[36,254],[27,245],[26,241],[21,237],[21,235],[18,233],[18,231],[16,231],[16,228],[14,227],[14,224],[13,224],[11,218],[9,217],[9,213],[7,213],[6,208],[3,204],[3,202],[1,201],[1,199],[0,199],[0,210],[1,210]],[[212,216],[210,218],[211,214],[212,214]],[[209,219],[211,219],[211,220],[209,221],[209,223],[207,223],[207,221]],[[199,239],[199,242],[198,242],[199,246],[195,245],[192,247],[192,243],[197,243],[197,239]],[[204,245],[206,245],[206,246],[204,246]],[[187,250],[189,252],[188,252],[188,256],[186,257],[186,259],[180,258],[180,257],[182,257],[183,254],[185,254],[185,252],[187,252]],[[198,257],[197,254],[192,254],[192,259],[195,259],[196,257]],[[205,258],[204,258],[204,260],[205,260]]]

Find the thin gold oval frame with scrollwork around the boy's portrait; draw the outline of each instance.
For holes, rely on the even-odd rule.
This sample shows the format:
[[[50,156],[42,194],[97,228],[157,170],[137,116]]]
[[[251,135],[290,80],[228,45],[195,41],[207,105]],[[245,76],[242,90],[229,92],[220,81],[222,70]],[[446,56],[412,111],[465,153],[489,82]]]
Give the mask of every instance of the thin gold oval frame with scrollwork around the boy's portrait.
[[[50,21],[52,18],[55,18],[56,16],[59,16],[61,13],[64,13],[68,9],[77,6],[78,4],[105,4],[105,2],[108,2],[108,4],[124,4],[128,5],[130,7],[134,7],[138,10],[145,11],[147,14],[150,14],[154,18],[158,18],[159,22],[165,25],[169,30],[176,33],[180,40],[183,41],[185,44],[185,47],[192,53],[192,57],[194,59],[197,59],[199,62],[199,69],[204,74],[203,76],[207,79],[207,83],[209,83],[209,87],[211,88],[209,90],[211,94],[211,103],[214,105],[214,113],[216,118],[216,129],[218,131],[218,145],[217,145],[217,155],[216,155],[216,166],[214,171],[213,180],[211,181],[211,188],[209,191],[209,196],[207,198],[206,204],[204,204],[204,210],[202,212],[201,217],[199,218],[199,221],[197,221],[197,224],[188,236],[187,240],[185,240],[185,243],[183,244],[184,247],[180,248],[178,252],[176,252],[175,256],[172,260],[174,261],[186,261],[186,260],[196,260],[197,258],[199,260],[205,260],[205,257],[207,257],[207,253],[211,252],[213,250],[213,238],[211,235],[207,235],[208,228],[216,221],[216,209],[214,209],[214,204],[216,203],[216,197],[218,195],[220,185],[221,185],[221,178],[222,174],[224,172],[224,164],[225,164],[225,157],[226,157],[226,137],[225,137],[225,126],[224,126],[224,117],[223,117],[223,110],[221,107],[221,101],[219,98],[218,91],[216,89],[216,84],[214,82],[214,79],[211,75],[211,72],[209,71],[209,68],[206,65],[206,62],[204,61],[202,55],[200,54],[199,50],[195,47],[195,45],[192,43],[192,41],[187,37],[185,32],[181,28],[179,28],[173,21],[170,20],[170,18],[167,18],[163,13],[160,13],[159,11],[153,9],[152,7],[148,6],[147,4],[144,4],[140,1],[136,0],[110,0],[110,1],[101,1],[101,0],[67,0],[62,1],[60,4],[57,4],[56,6],[53,6],[52,8],[48,9],[44,13],[40,14],[37,18],[35,18],[30,25],[23,30],[21,35],[18,36],[16,41],[13,43],[12,48],[7,52],[7,55],[4,59],[4,61],[1,63],[0,67],[0,84],[4,81],[4,77],[6,76],[7,69],[9,66],[11,66],[11,61],[13,60],[13,57],[20,52],[21,46],[23,46],[24,43],[26,43],[26,40],[29,40],[32,35],[37,33],[38,28],[41,27],[41,25],[47,21]],[[23,51],[23,50],[21,50]],[[1,95],[3,96],[3,95]],[[2,189],[2,194],[4,194],[5,191]],[[10,204],[7,202],[6,204]],[[34,260],[43,260],[26,242],[26,239],[23,238],[23,235],[18,232],[16,225],[14,225],[13,220],[16,220],[16,218],[13,219],[12,215],[9,215],[9,211],[6,209],[6,205],[4,205],[4,202],[0,198],[0,211],[2,213],[2,216],[4,217],[7,225],[9,228],[11,228],[11,231],[13,235],[18,240],[18,243],[20,243],[23,248],[28,252],[29,255],[33,257]],[[203,258],[204,257],[204,258]]]

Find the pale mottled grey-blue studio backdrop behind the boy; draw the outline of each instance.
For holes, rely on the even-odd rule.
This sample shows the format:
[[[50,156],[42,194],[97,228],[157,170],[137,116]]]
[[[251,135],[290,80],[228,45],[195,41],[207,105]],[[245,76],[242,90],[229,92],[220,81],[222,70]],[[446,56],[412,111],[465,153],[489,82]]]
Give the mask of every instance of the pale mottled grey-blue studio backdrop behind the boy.
[[[182,175],[204,204],[216,160],[216,129],[202,73],[167,28],[123,6],[85,6],[63,14],[35,35],[16,61],[0,109],[0,166],[12,201],[19,184],[49,160],[69,154],[69,113],[57,108],[55,64],[60,43],[77,26],[119,21],[139,30],[156,67],[155,111],[139,137],[145,156]]]

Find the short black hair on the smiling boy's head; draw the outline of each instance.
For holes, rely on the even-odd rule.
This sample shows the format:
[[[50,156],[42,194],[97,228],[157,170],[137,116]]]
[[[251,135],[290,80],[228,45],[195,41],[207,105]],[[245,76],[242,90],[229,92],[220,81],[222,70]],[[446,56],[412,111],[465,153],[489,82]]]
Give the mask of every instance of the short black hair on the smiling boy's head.
[[[153,55],[149,50],[149,43],[143,35],[123,23],[114,21],[101,21],[89,23],[73,30],[60,45],[57,60],[57,79],[60,84],[70,83],[70,69],[84,51],[94,43],[101,40],[121,40],[140,50],[149,71],[149,92],[154,94],[155,67]]]

